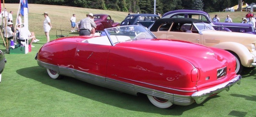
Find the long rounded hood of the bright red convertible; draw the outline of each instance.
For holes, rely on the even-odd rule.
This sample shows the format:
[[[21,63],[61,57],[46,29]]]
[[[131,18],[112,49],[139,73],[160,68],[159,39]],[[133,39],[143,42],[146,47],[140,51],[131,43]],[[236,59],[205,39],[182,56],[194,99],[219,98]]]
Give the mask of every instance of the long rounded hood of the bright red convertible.
[[[207,68],[207,66],[220,67],[220,65],[224,66],[227,62],[225,59],[223,59],[223,55],[218,55],[219,51],[213,51],[212,48],[206,47],[204,45],[178,40],[137,40],[132,42],[118,43],[115,46],[153,51],[170,56],[175,56],[181,59],[186,59],[195,67],[199,68]],[[225,54],[226,53],[227,52],[225,52]]]

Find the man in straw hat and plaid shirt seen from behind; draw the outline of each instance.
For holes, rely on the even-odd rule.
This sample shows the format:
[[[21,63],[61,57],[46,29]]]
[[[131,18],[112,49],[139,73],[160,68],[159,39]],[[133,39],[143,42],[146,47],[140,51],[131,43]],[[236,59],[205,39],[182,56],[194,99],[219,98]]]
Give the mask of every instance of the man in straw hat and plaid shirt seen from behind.
[[[80,20],[76,23],[77,31],[79,31],[79,35],[90,35],[92,27],[96,28],[96,24],[93,20],[93,14],[86,14],[87,18]]]

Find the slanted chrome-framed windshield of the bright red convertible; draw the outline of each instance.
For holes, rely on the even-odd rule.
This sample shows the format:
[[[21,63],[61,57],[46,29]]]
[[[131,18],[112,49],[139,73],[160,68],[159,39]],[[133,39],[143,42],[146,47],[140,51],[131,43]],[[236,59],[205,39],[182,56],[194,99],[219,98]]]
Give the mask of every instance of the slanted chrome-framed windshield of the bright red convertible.
[[[104,29],[104,31],[108,32],[106,35],[112,41],[113,45],[132,40],[156,38],[148,28],[140,25],[113,27]]]

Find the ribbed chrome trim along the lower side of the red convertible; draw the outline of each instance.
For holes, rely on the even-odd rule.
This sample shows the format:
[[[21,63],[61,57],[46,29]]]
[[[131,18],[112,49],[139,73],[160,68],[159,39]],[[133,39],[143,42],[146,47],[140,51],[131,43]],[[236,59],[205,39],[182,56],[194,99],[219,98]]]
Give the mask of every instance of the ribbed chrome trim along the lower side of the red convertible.
[[[98,85],[98,86],[101,86],[101,87],[106,87],[106,88],[109,88],[109,89],[121,91],[121,92],[132,94],[132,95],[137,95],[137,93],[142,93],[142,94],[146,94],[146,95],[151,95],[151,96],[163,98],[163,99],[169,100],[170,102],[172,102],[173,104],[176,104],[176,105],[191,105],[192,103],[195,102],[195,99],[200,100],[200,97],[204,96],[204,95],[200,95],[200,92],[202,92],[202,91],[198,91],[198,92],[194,93],[193,98],[191,96],[184,96],[184,95],[177,95],[177,94],[167,93],[167,92],[163,92],[163,91],[159,91],[159,90],[150,89],[150,88],[147,88],[147,87],[134,85],[134,84],[127,83],[127,82],[121,82],[121,81],[118,81],[118,80],[106,78],[106,77],[99,76],[99,75],[94,75],[94,74],[82,72],[82,71],[72,69],[72,68],[66,68],[66,67],[51,65],[51,64],[39,61],[38,59],[37,59],[37,64],[39,66],[55,70],[60,75],[70,76],[70,77],[73,77],[75,79],[78,79],[78,80],[81,80],[81,81],[84,81],[84,82],[88,82],[88,83],[91,83],[91,84],[94,84],[94,85]],[[238,75],[238,76],[240,76],[240,75]],[[241,79],[241,76],[240,76],[240,79]],[[235,83],[240,84],[240,79],[239,79],[239,82],[235,82]],[[228,84],[229,87],[227,87],[223,90],[228,91],[229,88],[231,86],[233,86],[235,83]],[[210,88],[210,89],[212,89],[212,88]],[[171,89],[171,90],[173,90],[173,89]],[[197,96],[196,94],[199,94],[199,95]],[[209,96],[210,96],[210,94],[209,94]],[[205,99],[207,98],[206,96],[204,96],[204,97],[205,97]],[[204,101],[204,100],[200,100],[200,101]]]

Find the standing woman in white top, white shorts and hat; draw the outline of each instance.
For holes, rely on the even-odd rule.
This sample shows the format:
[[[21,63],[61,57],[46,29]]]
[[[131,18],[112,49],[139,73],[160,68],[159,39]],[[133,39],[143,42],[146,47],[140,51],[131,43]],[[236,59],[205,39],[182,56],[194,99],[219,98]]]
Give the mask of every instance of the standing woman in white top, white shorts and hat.
[[[47,38],[47,42],[50,42],[50,36],[49,36],[49,32],[52,28],[52,25],[51,25],[51,20],[50,18],[48,17],[48,13],[47,12],[44,12],[44,33],[45,33],[45,36]]]

